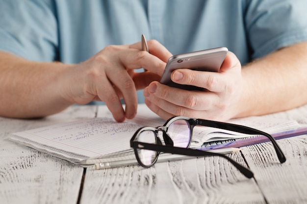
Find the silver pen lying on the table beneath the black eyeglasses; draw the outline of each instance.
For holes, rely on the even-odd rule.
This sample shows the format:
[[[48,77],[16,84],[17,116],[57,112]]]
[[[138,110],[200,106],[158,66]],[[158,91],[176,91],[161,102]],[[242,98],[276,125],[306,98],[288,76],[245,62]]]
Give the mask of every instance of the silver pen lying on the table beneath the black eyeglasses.
[[[199,149],[199,148],[197,148]],[[219,153],[219,154],[233,154],[235,152],[240,151],[239,148],[223,148],[223,149],[217,149],[217,150],[208,150],[207,152],[212,153]],[[174,155],[169,153],[162,153],[160,157],[158,158],[157,162],[164,162],[164,161],[176,161],[181,159],[192,159],[195,158],[193,156],[186,156],[186,155]],[[103,163],[96,163],[94,164],[94,169],[109,169],[109,168],[116,168],[116,167],[122,167],[122,166],[128,166],[128,165],[136,165],[138,164],[136,159],[128,159],[128,160],[121,160],[121,161],[109,161],[109,162],[103,162]]]

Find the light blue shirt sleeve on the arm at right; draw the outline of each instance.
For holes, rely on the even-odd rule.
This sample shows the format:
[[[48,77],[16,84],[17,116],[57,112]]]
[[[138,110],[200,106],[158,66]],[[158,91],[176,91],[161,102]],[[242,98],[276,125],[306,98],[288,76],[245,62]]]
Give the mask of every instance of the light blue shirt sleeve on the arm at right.
[[[307,41],[307,0],[251,0],[245,26],[252,58]]]

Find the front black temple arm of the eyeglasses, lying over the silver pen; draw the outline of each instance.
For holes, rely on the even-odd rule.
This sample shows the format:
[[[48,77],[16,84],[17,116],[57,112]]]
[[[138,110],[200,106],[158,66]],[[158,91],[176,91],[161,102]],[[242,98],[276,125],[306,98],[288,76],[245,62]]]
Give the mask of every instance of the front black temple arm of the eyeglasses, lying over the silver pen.
[[[142,148],[140,148],[140,145]],[[171,146],[164,146],[164,145],[157,145],[157,144],[149,144],[144,142],[135,142],[135,147],[138,149],[148,149],[153,150],[157,152],[165,152],[165,153],[171,153],[171,154],[177,154],[177,155],[186,155],[186,156],[194,156],[194,157],[204,157],[204,156],[219,156],[222,158],[225,158],[230,161],[244,176],[247,178],[253,178],[254,173],[249,170],[248,168],[242,166],[238,162],[234,161],[230,157],[227,157],[223,154],[213,153],[213,152],[206,152],[202,150],[197,149],[189,149],[189,148],[182,148],[182,147],[171,147]],[[133,145],[133,146],[134,146]]]

